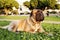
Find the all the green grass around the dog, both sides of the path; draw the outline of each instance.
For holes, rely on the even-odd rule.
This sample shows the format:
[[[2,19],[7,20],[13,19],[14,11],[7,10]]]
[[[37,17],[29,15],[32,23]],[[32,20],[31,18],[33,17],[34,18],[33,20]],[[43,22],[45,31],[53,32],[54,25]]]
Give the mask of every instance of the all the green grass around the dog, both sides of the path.
[[[18,20],[25,19],[28,16],[0,16],[0,19],[10,19],[10,20]],[[60,21],[60,17],[50,16],[45,17],[45,21]],[[10,23],[10,21],[0,21],[0,26],[6,26]],[[27,32],[19,32],[16,34],[14,32],[10,32],[7,29],[0,29],[0,40],[60,40],[60,24],[49,24],[42,23],[43,28],[46,32],[50,32],[53,36],[48,36],[44,33],[27,33]]]

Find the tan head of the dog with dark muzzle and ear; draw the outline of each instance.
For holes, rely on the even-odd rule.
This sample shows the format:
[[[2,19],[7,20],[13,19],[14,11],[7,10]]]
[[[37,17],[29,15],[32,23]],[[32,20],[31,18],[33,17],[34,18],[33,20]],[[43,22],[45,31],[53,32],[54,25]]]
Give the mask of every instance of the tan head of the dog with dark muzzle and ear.
[[[33,9],[30,14],[30,17],[33,17],[36,21],[39,22],[44,20],[44,14],[40,9]]]

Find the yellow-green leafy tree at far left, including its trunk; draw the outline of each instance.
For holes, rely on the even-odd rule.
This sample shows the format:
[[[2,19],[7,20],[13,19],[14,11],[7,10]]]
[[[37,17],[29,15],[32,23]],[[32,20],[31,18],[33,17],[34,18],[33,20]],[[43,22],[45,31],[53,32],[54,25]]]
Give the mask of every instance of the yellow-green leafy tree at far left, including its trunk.
[[[12,10],[12,7],[18,8],[19,4],[15,0],[0,0],[0,9],[4,9],[6,15],[9,10]]]

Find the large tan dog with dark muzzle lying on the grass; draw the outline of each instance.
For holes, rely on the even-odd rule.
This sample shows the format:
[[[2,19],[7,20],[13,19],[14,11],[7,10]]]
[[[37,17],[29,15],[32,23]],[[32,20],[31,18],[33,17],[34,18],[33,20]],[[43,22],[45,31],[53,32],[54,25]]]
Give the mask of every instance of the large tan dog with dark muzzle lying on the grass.
[[[12,32],[25,31],[30,33],[45,32],[41,26],[41,21],[44,20],[43,11],[33,9],[30,16],[24,20],[12,21],[8,26],[1,27]]]

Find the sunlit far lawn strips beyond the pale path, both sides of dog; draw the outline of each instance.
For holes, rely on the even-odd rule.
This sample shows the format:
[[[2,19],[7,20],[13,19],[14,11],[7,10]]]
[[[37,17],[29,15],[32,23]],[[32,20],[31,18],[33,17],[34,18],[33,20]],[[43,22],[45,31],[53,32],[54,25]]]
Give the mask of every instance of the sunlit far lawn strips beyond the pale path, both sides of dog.
[[[19,20],[19,19],[25,19],[27,17],[28,16],[0,16],[0,19]],[[60,21],[60,17],[57,16],[45,17],[45,21]]]

